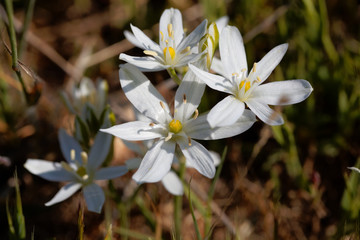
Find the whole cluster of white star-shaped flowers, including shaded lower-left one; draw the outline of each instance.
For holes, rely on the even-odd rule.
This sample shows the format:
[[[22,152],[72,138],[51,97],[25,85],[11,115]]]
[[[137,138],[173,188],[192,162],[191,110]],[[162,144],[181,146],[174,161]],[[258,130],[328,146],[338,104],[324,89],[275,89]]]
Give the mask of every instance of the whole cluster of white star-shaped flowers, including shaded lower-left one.
[[[280,114],[268,105],[298,103],[312,92],[309,82],[300,79],[262,84],[280,63],[288,45],[272,49],[261,61],[254,63],[248,73],[241,34],[237,28],[226,25],[226,17],[209,25],[204,20],[186,36],[180,11],[167,9],[160,18],[159,44],[131,25],[132,33],[125,32],[125,36],[135,46],[144,49],[146,56],[133,57],[122,53],[120,59],[127,64],[121,65],[119,76],[122,90],[142,117],[101,131],[126,141],[145,141],[146,152],[137,151],[142,159],[129,161],[127,167],[96,170],[106,157],[104,153],[108,152],[101,149],[101,144],[109,141],[104,135],[111,135],[98,133],[87,158],[86,154],[81,154],[80,145],[60,131],[67,163],[30,159],[25,164],[30,172],[45,179],[70,181],[47,205],[60,202],[83,188],[88,209],[99,212],[104,196],[94,180],[118,177],[135,168],[138,168],[133,175],[136,182],[163,181],[172,194],[183,194],[182,182],[171,170],[177,159],[185,158],[186,166],[195,168],[208,178],[215,175],[218,157],[196,140],[238,135],[254,124],[256,116],[270,125],[283,123]],[[214,58],[217,44],[221,60]],[[210,68],[220,75],[210,73]],[[184,69],[187,69],[186,73],[179,77],[177,72],[183,73]],[[179,84],[173,110],[141,72],[159,70],[168,70]],[[197,108],[206,85],[230,96],[216,104],[209,113],[199,114]]]

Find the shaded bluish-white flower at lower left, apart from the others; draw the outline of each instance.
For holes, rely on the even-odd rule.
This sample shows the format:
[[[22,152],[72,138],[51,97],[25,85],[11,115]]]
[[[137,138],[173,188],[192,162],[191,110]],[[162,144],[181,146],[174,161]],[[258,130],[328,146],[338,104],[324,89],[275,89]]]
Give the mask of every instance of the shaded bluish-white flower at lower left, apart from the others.
[[[95,137],[89,157],[83,152],[79,143],[63,129],[59,131],[59,141],[67,162],[28,159],[24,164],[29,172],[46,180],[69,182],[45,205],[51,206],[62,202],[82,189],[88,210],[100,213],[105,195],[94,181],[119,177],[128,171],[126,166],[98,169],[109,152],[109,149],[104,149],[104,146],[111,147],[111,136],[99,132]]]

